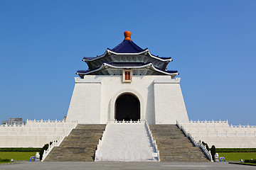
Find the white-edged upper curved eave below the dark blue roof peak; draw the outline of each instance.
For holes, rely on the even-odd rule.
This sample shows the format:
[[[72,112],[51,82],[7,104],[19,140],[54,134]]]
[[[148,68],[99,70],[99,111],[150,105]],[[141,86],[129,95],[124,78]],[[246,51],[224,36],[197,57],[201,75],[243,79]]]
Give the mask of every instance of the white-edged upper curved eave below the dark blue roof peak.
[[[144,50],[144,51],[138,52],[138,53],[117,53],[117,52],[112,52],[111,50],[106,50],[103,55],[100,55],[100,56],[95,57],[93,59],[83,58],[82,61],[83,62],[92,62],[92,61],[95,61],[95,60],[99,60],[100,58],[103,58],[103,57],[105,57],[105,55],[109,55],[109,54],[112,54],[112,55],[146,55],[146,54],[149,54],[150,57],[152,57],[152,58],[154,58],[156,60],[159,60],[161,62],[171,62],[172,61],[171,57],[169,59],[161,59],[159,57],[151,55],[149,50]]]

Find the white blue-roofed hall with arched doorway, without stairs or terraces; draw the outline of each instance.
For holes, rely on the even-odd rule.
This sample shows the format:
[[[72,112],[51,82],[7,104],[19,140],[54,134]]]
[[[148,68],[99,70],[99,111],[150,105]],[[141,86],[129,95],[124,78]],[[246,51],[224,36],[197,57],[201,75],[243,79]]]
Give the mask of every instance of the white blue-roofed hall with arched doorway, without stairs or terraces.
[[[85,57],[78,70],[67,120],[106,124],[108,120],[147,120],[150,124],[188,121],[177,71],[171,57],[151,55],[124,33],[124,41],[103,55]],[[138,106],[139,105],[139,106]]]

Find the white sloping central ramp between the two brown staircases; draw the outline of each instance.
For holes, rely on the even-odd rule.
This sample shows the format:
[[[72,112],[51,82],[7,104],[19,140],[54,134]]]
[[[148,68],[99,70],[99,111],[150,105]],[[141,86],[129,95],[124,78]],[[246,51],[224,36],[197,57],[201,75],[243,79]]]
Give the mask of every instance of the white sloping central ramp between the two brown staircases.
[[[157,162],[157,155],[145,122],[112,122],[107,124],[95,161]]]

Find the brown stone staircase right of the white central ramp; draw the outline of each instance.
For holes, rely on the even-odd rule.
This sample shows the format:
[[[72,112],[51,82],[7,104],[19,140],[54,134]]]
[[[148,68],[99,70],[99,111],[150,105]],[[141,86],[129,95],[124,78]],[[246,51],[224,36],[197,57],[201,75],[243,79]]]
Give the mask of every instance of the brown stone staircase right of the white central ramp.
[[[206,154],[177,125],[149,125],[161,162],[209,162]]]

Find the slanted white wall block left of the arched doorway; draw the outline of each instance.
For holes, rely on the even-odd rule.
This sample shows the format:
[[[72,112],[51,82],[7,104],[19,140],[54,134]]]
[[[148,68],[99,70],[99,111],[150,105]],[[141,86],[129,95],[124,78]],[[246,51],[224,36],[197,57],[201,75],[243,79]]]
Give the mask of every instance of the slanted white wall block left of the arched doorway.
[[[99,124],[102,83],[99,79],[75,77],[75,88],[68,109],[67,120],[82,124]]]

